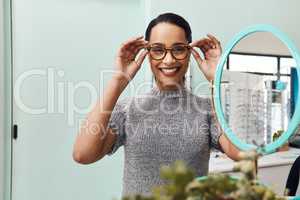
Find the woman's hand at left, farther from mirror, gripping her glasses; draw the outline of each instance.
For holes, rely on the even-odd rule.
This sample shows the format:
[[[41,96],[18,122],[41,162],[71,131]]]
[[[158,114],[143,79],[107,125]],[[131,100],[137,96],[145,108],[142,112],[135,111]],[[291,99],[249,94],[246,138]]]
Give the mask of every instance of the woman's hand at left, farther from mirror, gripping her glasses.
[[[138,58],[138,53],[147,45],[147,41],[143,36],[132,38],[122,44],[118,50],[116,57],[117,78],[126,79],[128,82],[133,79],[137,71],[140,69],[146,55],[147,50],[143,50]]]

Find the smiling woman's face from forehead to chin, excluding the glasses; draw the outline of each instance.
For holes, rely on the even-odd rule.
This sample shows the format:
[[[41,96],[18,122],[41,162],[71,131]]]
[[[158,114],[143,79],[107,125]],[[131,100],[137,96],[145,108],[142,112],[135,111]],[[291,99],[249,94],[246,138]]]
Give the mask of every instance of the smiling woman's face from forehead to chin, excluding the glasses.
[[[155,54],[158,52],[159,54],[159,51],[163,47],[167,49],[173,47],[173,55],[176,56],[176,54],[179,55],[180,51],[182,51],[180,47],[184,46],[180,44],[188,44],[188,42],[184,30],[179,26],[170,23],[159,23],[152,28],[149,38],[149,45],[154,47],[152,48],[152,53],[154,52]],[[155,76],[157,86],[161,90],[178,89],[179,86],[182,86],[189,59],[189,50],[187,56],[180,59],[174,58],[170,50],[167,51],[165,57],[162,59],[154,59],[149,55],[151,70]]]

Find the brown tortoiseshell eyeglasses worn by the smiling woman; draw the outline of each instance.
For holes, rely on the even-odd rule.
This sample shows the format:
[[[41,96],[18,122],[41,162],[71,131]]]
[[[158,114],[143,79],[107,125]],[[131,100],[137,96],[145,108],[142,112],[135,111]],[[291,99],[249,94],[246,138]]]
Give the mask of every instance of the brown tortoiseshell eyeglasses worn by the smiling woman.
[[[171,55],[176,60],[183,60],[185,59],[191,47],[188,44],[176,44],[173,45],[171,48],[166,48],[162,44],[151,44],[146,49],[149,51],[150,57],[154,60],[162,60],[166,57],[167,51],[171,52]]]

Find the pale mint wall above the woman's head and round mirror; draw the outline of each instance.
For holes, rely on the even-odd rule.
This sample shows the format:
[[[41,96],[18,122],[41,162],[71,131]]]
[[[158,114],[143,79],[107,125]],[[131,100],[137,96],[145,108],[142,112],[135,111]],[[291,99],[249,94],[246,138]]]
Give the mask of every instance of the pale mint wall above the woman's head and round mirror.
[[[151,16],[162,12],[176,12],[191,24],[193,37],[215,34],[225,45],[242,28],[258,24],[272,24],[287,33],[300,47],[300,13],[297,0],[152,0]]]

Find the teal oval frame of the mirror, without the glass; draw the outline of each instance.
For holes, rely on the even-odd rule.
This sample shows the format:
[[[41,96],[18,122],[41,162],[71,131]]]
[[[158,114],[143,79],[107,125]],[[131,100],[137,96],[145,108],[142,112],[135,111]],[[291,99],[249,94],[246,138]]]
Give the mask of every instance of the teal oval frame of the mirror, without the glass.
[[[226,136],[229,138],[229,140],[240,150],[243,151],[249,151],[252,149],[256,149],[261,154],[270,154],[276,151],[277,148],[285,144],[289,137],[293,135],[295,132],[299,122],[300,122],[300,107],[299,107],[299,100],[300,100],[300,93],[298,93],[297,96],[297,103],[295,103],[296,108],[294,115],[288,125],[287,131],[285,131],[276,141],[271,142],[270,144],[265,145],[264,147],[257,147],[252,144],[245,143],[244,141],[241,141],[237,135],[234,134],[232,129],[228,126],[225,116],[222,110],[222,104],[221,104],[221,78],[223,73],[223,66],[226,63],[227,57],[230,54],[231,50],[234,48],[234,46],[243,38],[246,36],[255,33],[255,32],[270,32],[273,33],[278,39],[280,39],[289,49],[291,52],[291,55],[296,61],[296,69],[297,73],[300,74],[300,56],[298,53],[297,48],[292,43],[292,41],[280,30],[273,27],[272,25],[268,24],[257,24],[253,26],[249,26],[239,32],[236,36],[233,37],[233,39],[228,43],[228,45],[225,48],[225,51],[223,52],[221,59],[218,63],[216,73],[215,73],[215,79],[214,79],[214,96],[213,101],[215,105],[215,112],[217,115],[217,119],[222,127],[222,130],[226,134]],[[300,81],[298,82],[298,88],[300,88]]]

